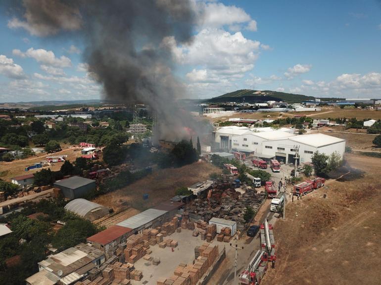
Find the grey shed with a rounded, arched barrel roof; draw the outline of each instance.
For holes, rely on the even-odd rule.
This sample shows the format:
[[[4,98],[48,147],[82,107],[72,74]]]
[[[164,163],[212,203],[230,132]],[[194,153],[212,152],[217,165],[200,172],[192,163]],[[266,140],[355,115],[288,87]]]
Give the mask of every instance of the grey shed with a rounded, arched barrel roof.
[[[107,207],[86,199],[74,199],[65,205],[65,209],[90,221],[95,221],[109,214]]]

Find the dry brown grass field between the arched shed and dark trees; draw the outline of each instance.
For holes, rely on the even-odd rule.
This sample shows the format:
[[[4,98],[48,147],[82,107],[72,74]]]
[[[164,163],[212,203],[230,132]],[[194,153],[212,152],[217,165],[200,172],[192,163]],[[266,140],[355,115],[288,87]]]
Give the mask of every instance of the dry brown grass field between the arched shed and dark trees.
[[[129,207],[145,210],[172,198],[180,187],[205,181],[213,172],[221,173],[221,169],[204,162],[160,169],[127,187],[97,197],[93,202],[112,207],[116,212]],[[143,194],[148,194],[148,200],[143,200]]]

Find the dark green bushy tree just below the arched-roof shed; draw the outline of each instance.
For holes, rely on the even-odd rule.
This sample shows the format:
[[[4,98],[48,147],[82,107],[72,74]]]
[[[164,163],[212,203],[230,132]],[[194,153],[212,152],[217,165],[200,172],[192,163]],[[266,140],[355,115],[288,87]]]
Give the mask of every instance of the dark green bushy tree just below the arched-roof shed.
[[[76,244],[85,243],[87,237],[91,237],[96,233],[97,229],[91,221],[81,218],[68,220],[55,234],[52,244],[61,251]]]

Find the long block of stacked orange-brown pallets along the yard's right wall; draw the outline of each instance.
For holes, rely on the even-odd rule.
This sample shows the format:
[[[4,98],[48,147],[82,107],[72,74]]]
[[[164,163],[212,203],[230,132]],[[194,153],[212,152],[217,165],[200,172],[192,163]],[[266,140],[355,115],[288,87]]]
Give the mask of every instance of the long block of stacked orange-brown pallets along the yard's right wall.
[[[160,278],[157,285],[196,285],[205,272],[216,261],[218,246],[202,244],[194,248],[195,260],[193,264],[180,263],[169,278]]]

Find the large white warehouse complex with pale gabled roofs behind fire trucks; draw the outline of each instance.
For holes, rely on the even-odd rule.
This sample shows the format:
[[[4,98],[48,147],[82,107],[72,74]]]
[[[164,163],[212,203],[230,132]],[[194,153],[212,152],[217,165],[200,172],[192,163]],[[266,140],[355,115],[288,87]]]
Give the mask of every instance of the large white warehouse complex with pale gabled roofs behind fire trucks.
[[[344,139],[321,133],[295,135],[282,130],[253,132],[248,128],[230,126],[217,129],[214,138],[220,149],[237,150],[267,161],[276,158],[283,163],[294,163],[296,147],[299,147],[299,163],[311,162],[316,151],[326,155],[337,152],[341,157],[345,151]]]

